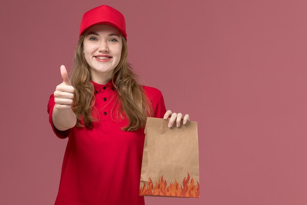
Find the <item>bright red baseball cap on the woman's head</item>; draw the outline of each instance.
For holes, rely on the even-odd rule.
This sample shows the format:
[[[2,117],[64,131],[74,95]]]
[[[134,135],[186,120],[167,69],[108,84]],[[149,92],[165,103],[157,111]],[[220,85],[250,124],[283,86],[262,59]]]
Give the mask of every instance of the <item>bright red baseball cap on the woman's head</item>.
[[[101,5],[85,12],[81,20],[79,37],[86,29],[96,24],[107,24],[115,27],[121,31],[127,41],[125,17],[115,8]]]

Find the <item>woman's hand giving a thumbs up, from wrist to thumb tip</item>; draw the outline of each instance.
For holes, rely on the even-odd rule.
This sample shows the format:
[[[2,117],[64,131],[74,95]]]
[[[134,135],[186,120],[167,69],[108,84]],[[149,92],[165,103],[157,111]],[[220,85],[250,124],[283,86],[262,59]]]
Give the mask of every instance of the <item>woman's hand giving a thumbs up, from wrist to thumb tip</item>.
[[[54,107],[58,110],[71,109],[73,104],[75,88],[72,86],[68,73],[64,65],[61,65],[61,76],[63,78],[63,83],[56,86],[54,95]]]

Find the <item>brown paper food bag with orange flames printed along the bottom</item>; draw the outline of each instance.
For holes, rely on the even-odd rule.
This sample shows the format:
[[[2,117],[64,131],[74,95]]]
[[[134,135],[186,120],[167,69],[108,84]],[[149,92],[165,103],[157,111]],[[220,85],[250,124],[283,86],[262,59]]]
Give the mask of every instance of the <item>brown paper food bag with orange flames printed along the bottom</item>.
[[[147,118],[139,195],[199,198],[197,122],[168,122]]]

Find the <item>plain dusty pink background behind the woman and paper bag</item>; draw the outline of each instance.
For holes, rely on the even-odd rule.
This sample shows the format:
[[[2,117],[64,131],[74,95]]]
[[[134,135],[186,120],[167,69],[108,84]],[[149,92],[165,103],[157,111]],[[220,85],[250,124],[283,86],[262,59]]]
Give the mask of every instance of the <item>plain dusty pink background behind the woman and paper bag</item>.
[[[54,203],[67,139],[47,103],[101,4],[126,16],[145,84],[199,124],[201,198],[147,205],[307,204],[306,0],[1,2],[0,204]]]

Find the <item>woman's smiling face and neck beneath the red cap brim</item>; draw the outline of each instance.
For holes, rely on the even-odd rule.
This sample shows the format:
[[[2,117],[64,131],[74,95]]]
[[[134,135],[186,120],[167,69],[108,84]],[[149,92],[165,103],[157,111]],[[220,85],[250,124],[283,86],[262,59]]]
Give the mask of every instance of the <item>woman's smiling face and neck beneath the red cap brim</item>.
[[[83,52],[92,80],[112,78],[113,70],[121,59],[122,48],[121,32],[112,26],[95,25],[85,32]]]

